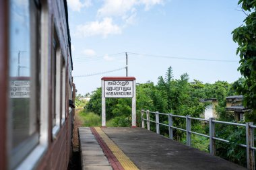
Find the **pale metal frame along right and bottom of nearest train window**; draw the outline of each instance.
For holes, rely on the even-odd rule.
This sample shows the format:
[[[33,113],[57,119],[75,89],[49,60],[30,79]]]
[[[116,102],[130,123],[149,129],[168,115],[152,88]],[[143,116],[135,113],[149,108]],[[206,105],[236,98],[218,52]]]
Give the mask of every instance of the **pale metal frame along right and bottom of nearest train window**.
[[[29,138],[30,141],[36,140],[36,145],[32,146],[32,149],[26,154],[26,155],[20,155],[20,153],[15,153],[17,156],[15,157],[22,157],[21,161],[16,161],[16,163],[13,163],[13,157],[11,157],[11,149],[9,150],[9,169],[34,169],[36,165],[38,164],[38,160],[40,160],[44,153],[46,152],[46,149],[48,147],[48,120],[49,116],[48,114],[48,95],[41,95],[42,93],[48,94],[48,50],[40,50],[40,49],[47,49],[48,48],[48,37],[44,36],[45,34],[47,35],[49,33],[48,26],[46,26],[44,23],[48,23],[48,18],[49,18],[49,11],[48,11],[48,5],[47,3],[40,3],[40,1],[34,0],[34,1],[29,1],[30,3],[35,3],[36,7],[36,13],[38,17],[37,20],[37,26],[36,26],[36,37],[38,38],[38,44],[36,46],[36,54],[38,54],[37,59],[32,58],[32,68],[36,68],[38,71],[32,71],[32,75],[36,75],[36,81],[38,84],[38,89],[36,89],[37,97],[38,99],[35,99],[34,103],[38,104],[38,107],[36,108],[36,116],[37,116],[37,132],[38,136],[33,136],[32,138]],[[9,18],[11,19],[11,17]],[[44,30],[42,32],[41,30]],[[33,33],[32,33],[33,34]],[[32,35],[33,36],[33,35]],[[34,43],[33,41],[31,42],[32,44]],[[46,56],[46,57],[43,57]],[[35,63],[34,63],[35,62]],[[40,83],[39,83],[40,81]],[[32,89],[32,91],[35,91],[35,89]],[[38,114],[37,114],[38,113]],[[8,125],[10,126],[10,125]],[[10,129],[10,128],[9,128]],[[8,134],[11,132],[8,131]],[[11,140],[11,139],[10,139]],[[27,142],[26,145],[31,144],[31,142]],[[11,148],[11,146],[8,146],[8,148]],[[22,148],[26,149],[26,147]],[[18,158],[19,159],[19,158]],[[16,160],[16,159],[15,159]]]

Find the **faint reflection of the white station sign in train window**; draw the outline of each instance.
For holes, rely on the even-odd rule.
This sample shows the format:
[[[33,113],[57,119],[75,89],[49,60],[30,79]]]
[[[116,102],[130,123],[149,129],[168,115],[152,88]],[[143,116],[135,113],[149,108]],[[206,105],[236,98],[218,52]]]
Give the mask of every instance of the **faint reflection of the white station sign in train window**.
[[[11,80],[10,81],[11,98],[29,98],[30,81],[29,80]]]

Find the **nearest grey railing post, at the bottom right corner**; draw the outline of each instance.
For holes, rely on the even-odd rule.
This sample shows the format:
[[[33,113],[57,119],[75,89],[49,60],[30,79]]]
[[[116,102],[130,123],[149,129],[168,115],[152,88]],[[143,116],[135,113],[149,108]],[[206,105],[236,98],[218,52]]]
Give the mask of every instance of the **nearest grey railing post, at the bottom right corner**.
[[[247,153],[247,169],[255,169],[255,158],[254,158],[254,151],[251,149],[253,144],[253,128],[250,126],[253,125],[253,122],[246,123],[246,153]]]

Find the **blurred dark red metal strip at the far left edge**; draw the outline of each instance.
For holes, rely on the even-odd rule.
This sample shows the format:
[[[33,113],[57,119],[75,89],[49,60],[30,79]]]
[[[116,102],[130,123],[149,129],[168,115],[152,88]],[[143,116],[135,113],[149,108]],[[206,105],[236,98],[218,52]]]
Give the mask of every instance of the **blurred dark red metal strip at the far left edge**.
[[[7,169],[8,1],[0,1],[0,169]]]

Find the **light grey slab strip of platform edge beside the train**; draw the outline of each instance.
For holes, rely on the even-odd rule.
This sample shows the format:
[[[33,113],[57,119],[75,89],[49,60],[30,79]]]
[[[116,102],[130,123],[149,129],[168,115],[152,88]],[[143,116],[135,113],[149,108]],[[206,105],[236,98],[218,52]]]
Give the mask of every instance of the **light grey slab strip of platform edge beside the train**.
[[[78,128],[82,170],[113,170],[90,128]]]

